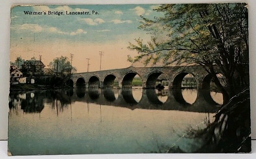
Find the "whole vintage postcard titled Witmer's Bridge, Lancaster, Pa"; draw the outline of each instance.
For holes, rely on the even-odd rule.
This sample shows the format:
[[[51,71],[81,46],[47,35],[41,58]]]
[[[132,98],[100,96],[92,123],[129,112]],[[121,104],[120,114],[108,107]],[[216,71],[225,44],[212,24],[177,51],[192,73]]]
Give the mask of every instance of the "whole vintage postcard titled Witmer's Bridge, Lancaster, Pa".
[[[247,4],[10,18],[8,155],[250,153]]]

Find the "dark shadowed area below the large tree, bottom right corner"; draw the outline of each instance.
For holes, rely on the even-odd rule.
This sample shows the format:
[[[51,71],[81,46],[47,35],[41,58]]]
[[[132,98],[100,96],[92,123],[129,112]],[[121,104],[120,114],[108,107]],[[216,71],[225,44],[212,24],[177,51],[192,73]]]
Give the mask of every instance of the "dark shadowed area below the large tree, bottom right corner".
[[[209,119],[209,118],[208,118]],[[205,120],[205,128],[191,129],[186,138],[194,143],[187,151],[177,143],[169,153],[239,153],[251,151],[250,135],[250,90],[246,89],[233,97],[216,114],[214,122]]]

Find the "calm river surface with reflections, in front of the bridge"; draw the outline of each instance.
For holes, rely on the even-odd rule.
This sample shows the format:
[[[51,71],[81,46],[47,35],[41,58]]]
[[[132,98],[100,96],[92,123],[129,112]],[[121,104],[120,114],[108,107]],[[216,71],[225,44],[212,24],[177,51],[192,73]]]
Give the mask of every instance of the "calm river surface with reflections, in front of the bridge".
[[[175,144],[192,152],[200,142],[182,136],[204,128],[222,104],[222,94],[209,94],[212,99],[196,89],[11,92],[8,149],[12,155],[165,153]]]

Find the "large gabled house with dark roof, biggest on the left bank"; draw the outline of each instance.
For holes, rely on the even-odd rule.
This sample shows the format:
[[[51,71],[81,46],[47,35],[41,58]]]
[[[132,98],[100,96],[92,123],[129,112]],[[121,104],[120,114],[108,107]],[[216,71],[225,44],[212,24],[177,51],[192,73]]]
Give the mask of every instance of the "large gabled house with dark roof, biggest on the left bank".
[[[41,60],[26,60],[22,65],[24,74],[43,74],[45,65]]]

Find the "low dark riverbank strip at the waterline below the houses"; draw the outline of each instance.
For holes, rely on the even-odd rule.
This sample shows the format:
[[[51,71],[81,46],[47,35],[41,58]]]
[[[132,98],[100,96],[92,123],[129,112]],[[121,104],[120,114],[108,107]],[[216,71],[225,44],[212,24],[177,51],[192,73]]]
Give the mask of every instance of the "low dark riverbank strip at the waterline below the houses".
[[[10,85],[10,92],[12,91],[24,91],[24,90],[49,90],[49,89],[63,89],[70,88],[69,86],[50,86],[40,84],[15,84]]]

